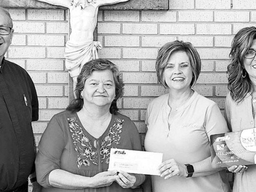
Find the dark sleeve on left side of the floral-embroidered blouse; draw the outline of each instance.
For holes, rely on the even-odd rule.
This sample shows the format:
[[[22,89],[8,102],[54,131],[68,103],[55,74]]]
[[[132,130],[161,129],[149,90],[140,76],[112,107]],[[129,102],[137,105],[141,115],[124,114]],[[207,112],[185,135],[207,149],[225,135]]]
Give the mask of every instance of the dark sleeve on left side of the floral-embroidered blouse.
[[[36,158],[37,182],[50,187],[49,174],[60,168],[60,158],[65,145],[64,131],[60,119],[54,116],[46,127],[38,145]]]

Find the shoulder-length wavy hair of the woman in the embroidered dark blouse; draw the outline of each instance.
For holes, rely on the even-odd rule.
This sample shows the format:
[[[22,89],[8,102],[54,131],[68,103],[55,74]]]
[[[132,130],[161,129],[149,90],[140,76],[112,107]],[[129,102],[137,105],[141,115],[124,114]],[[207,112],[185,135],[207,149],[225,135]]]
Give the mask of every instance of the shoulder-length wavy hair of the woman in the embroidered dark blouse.
[[[82,70],[77,77],[77,84],[74,91],[76,99],[74,99],[71,102],[71,104],[67,107],[67,110],[72,112],[78,112],[82,109],[83,99],[81,98],[81,92],[84,89],[86,79],[88,79],[91,76],[93,71],[102,70],[110,70],[113,73],[113,78],[116,87],[116,97],[110,105],[110,113],[117,114],[117,100],[121,98],[124,94],[124,83],[121,79],[118,67],[109,60],[105,59],[94,59],[83,65]]]

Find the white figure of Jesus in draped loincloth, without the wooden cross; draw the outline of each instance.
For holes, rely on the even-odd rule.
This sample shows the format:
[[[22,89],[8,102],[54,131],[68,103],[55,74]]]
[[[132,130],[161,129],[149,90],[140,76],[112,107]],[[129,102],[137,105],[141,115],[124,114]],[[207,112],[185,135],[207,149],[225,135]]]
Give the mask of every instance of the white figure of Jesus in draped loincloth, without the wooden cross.
[[[97,25],[99,7],[128,0],[38,0],[52,5],[63,6],[70,10],[71,34],[66,42],[65,65],[73,78],[73,88],[82,66],[91,59],[98,58],[97,50],[101,42],[93,41]]]

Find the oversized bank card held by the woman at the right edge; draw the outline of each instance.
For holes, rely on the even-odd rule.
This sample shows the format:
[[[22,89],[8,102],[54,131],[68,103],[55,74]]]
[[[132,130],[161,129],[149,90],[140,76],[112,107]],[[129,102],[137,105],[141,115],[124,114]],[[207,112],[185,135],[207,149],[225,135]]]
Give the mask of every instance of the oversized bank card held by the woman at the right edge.
[[[256,164],[256,128],[210,136],[212,167]]]

